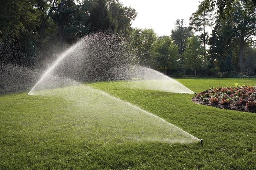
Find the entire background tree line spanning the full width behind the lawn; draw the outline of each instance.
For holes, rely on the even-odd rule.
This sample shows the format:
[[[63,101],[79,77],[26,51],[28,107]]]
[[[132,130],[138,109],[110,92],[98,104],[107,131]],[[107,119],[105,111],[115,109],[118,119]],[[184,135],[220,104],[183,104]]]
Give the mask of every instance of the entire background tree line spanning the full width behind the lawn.
[[[141,65],[166,75],[256,75],[254,0],[203,0],[189,26],[178,19],[169,36],[131,28],[136,16],[119,0],[0,0],[0,62],[43,67],[79,38],[105,31],[125,37]]]

